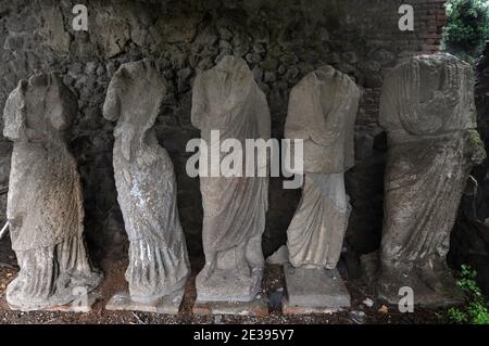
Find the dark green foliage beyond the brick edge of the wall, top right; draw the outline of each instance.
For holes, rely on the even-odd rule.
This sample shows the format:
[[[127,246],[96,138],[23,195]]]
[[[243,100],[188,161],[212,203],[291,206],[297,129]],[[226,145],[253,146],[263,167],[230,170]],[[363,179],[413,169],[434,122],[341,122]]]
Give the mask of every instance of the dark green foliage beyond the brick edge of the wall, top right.
[[[474,59],[481,52],[487,39],[489,0],[450,0],[443,30],[446,49],[462,59]]]

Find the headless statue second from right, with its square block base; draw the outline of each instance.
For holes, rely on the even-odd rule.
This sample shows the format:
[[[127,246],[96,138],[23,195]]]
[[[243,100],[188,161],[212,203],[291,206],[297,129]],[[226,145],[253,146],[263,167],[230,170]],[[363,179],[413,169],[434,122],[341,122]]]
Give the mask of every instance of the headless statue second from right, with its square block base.
[[[292,306],[350,305],[338,272],[325,269],[336,268],[348,227],[343,175],[354,165],[359,98],[354,81],[330,66],[305,76],[290,94],[285,138],[304,141],[303,194],[287,230],[289,260],[296,268],[285,268]],[[328,280],[331,277],[337,283]],[[335,293],[343,291],[344,298],[331,299],[331,285],[338,286]]]

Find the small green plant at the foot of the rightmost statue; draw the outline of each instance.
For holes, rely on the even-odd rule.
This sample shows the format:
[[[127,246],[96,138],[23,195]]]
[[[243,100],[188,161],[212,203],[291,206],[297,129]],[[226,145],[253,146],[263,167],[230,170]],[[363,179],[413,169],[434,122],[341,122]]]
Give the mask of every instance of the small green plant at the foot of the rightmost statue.
[[[450,308],[447,311],[448,319],[456,324],[489,324],[489,302],[476,282],[477,272],[469,266],[462,266],[461,277],[456,281],[464,292],[466,306],[464,308]]]

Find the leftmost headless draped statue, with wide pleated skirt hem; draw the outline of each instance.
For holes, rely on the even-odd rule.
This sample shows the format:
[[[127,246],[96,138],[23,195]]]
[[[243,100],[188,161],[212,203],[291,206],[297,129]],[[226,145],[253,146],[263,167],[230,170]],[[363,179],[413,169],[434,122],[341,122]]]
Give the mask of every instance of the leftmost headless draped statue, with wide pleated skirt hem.
[[[67,305],[102,280],[85,248],[82,184],[66,144],[76,113],[55,74],[21,80],[5,103],[3,134],[14,141],[7,215],[21,269],[7,289],[14,309]]]

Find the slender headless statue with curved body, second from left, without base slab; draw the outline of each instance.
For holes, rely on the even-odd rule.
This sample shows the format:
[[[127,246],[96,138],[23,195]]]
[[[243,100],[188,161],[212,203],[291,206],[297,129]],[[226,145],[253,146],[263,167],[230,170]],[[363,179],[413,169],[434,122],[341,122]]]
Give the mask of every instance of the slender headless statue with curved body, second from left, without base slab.
[[[103,116],[117,120],[114,176],[129,239],[130,300],[155,307],[177,294],[178,309],[190,270],[173,164],[153,129],[165,93],[150,61],[123,64],[109,85]]]

